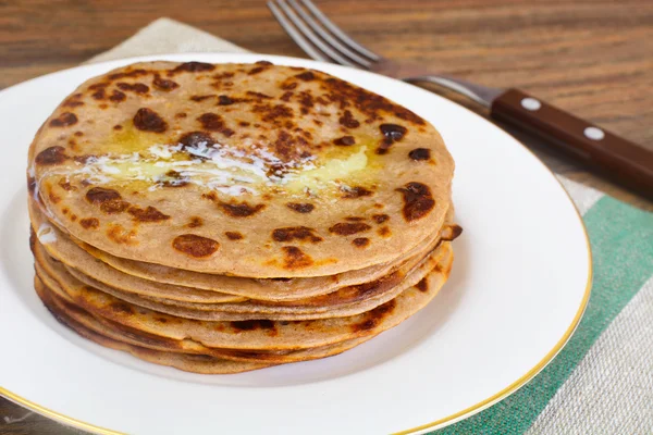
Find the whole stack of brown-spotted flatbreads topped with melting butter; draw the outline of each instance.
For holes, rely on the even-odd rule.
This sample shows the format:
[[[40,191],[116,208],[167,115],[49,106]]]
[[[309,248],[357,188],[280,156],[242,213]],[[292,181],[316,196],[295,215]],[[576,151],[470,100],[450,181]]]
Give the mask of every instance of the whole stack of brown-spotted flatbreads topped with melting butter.
[[[128,65],[32,144],[35,288],[79,335],[181,370],[329,357],[447,279],[453,170],[428,122],[322,72]]]

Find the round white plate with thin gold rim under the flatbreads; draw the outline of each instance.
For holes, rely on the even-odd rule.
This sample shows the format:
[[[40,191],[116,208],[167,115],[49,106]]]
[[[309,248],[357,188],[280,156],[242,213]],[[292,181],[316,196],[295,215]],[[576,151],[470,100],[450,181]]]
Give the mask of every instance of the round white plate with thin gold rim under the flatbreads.
[[[86,341],[34,293],[27,147],[87,78],[144,60],[310,66],[430,121],[456,161],[465,228],[451,279],[424,310],[344,355],[237,375],[195,375]],[[553,174],[513,137],[420,88],[367,72],[259,54],[157,55],[81,66],[0,92],[0,394],[100,433],[428,432],[515,391],[560,350],[591,281],[582,222]]]

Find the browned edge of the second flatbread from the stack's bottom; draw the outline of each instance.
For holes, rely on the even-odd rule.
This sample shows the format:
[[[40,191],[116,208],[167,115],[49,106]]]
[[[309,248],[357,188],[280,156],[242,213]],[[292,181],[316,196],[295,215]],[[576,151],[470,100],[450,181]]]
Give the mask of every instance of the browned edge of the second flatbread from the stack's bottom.
[[[138,307],[89,286],[65,287],[47,274],[39,277],[63,298],[96,316],[144,333],[193,339],[206,347],[233,349],[305,349],[379,334],[423,308],[440,290],[451,270],[453,253],[445,241],[442,261],[416,286],[368,312],[308,321],[219,322],[182,319]]]

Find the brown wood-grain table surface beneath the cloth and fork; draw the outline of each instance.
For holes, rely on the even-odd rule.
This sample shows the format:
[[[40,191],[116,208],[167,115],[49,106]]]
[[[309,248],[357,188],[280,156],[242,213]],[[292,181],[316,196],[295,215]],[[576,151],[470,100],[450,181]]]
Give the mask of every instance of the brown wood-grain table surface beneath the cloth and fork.
[[[653,149],[651,0],[316,3],[357,40],[389,58],[419,61],[480,84],[519,87]],[[0,88],[84,62],[161,16],[252,51],[305,57],[259,0],[0,0]],[[484,114],[473,103],[458,101]],[[650,201],[547,151],[544,144],[515,135],[556,172],[653,210]],[[35,415],[5,424],[4,417],[25,413],[0,399],[0,433],[71,433]]]

